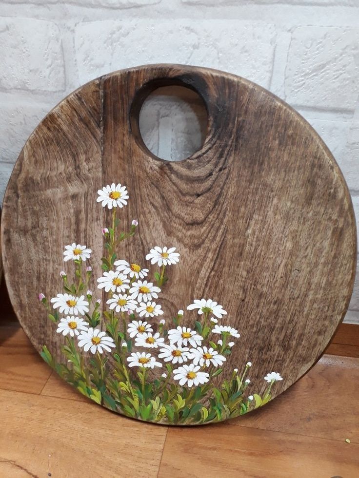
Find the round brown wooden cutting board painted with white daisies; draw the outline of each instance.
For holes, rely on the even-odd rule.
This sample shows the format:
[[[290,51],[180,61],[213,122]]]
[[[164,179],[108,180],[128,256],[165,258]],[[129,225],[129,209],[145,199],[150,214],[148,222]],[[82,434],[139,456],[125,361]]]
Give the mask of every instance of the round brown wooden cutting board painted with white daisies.
[[[176,163],[139,132],[167,85],[208,113],[202,148]],[[246,79],[180,65],[102,76],[56,106],[16,163],[1,240],[43,359],[95,402],[166,424],[237,417],[296,382],[355,274],[351,199],[315,131]]]

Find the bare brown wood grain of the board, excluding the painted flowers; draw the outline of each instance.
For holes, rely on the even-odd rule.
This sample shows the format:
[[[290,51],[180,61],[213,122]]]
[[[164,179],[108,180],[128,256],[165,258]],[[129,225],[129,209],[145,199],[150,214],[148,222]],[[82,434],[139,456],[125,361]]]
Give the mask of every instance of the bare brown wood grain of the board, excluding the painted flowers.
[[[143,99],[168,84],[197,91],[208,112],[202,148],[176,163],[153,156],[138,127]],[[319,359],[354,282],[355,219],[342,174],[314,130],[277,97],[238,76],[178,65],[88,83],[46,116],[20,154],[1,240],[12,304],[39,351],[47,344],[61,357],[63,337],[37,295],[60,292],[63,247],[86,244],[98,258],[94,277],[101,275],[99,231],[111,213],[95,201],[112,182],[129,191],[124,223],[140,223],[118,256],[143,263],[155,245],[180,252],[160,298],[166,318],[193,299],[222,304],[222,322],[241,334],[226,367],[250,360],[260,391],[264,375],[278,371],[284,380],[273,396]]]

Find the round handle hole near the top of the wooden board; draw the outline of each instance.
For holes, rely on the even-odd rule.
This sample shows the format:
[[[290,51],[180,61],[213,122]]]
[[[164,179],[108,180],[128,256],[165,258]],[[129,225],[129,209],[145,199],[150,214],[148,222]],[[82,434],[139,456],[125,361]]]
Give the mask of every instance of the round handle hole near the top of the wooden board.
[[[183,86],[164,86],[150,93],[140,109],[142,140],[155,156],[181,161],[202,146],[207,132],[202,98]]]

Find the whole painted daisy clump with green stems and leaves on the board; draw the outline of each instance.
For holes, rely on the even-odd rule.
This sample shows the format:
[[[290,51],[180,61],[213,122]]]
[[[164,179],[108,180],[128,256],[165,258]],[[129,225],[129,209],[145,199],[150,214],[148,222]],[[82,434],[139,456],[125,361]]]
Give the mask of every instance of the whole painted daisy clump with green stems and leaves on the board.
[[[75,262],[75,277],[61,271],[63,290],[50,300],[39,295],[54,333],[63,336],[64,360],[57,363],[46,345],[42,358],[86,397],[145,421],[221,421],[267,403],[282,377],[263,377],[267,387],[260,396],[251,390],[251,362],[226,367],[240,334],[214,300],[220,298],[194,298],[185,312],[166,317],[161,297],[170,287],[170,268],[180,267],[176,247],[154,246],[142,264],[117,257],[119,243],[140,229],[133,220],[127,231],[120,230],[128,199],[121,184],[98,191],[97,202],[112,210],[111,226],[101,231],[106,254],[97,278],[104,304],[96,292],[85,292],[93,273],[91,249],[76,242],[65,246],[63,260]]]

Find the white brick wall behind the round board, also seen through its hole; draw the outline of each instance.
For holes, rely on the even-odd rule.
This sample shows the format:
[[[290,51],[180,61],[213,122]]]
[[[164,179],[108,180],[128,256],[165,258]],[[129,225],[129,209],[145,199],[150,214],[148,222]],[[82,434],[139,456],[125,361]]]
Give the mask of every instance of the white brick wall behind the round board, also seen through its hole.
[[[0,198],[26,138],[62,97],[112,70],[179,62],[248,77],[292,104],[334,153],[359,217],[358,18],[359,0],[2,0]],[[158,96],[141,116],[159,154],[198,144],[183,102]],[[359,323],[359,275],[346,320]]]

